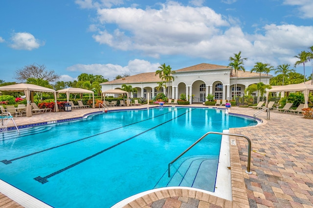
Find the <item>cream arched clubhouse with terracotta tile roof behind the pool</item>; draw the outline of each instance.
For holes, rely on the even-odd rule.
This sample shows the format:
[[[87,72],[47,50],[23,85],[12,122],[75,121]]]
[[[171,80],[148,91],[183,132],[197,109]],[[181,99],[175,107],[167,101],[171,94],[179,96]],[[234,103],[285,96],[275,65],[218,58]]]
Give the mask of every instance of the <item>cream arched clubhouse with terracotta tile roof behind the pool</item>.
[[[235,93],[235,70],[229,66],[201,63],[178,69],[172,76],[174,81],[166,83],[166,88],[162,87],[159,90],[157,90],[158,83],[162,80],[156,72],[137,74],[100,85],[102,91],[121,89],[122,84],[132,85],[137,89],[137,93],[131,93],[132,98],[148,98],[149,95],[151,99],[158,93],[164,93],[169,98],[179,99],[181,94],[185,94],[190,104],[192,103],[191,95],[194,95],[194,103],[201,103],[205,101],[208,94],[212,94],[215,100],[231,100]],[[261,82],[268,84],[271,77],[271,75],[261,74]],[[246,87],[259,82],[259,73],[238,71],[236,94],[243,96]]]

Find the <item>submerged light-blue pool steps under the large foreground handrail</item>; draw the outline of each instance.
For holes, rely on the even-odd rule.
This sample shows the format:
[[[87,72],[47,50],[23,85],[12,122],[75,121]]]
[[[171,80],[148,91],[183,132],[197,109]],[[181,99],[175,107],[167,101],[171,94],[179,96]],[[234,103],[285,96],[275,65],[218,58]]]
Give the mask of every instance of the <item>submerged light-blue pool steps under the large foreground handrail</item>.
[[[182,158],[183,159],[183,158]],[[172,177],[166,173],[155,188],[158,187],[195,187],[214,191],[218,166],[218,156],[188,157],[172,166]]]

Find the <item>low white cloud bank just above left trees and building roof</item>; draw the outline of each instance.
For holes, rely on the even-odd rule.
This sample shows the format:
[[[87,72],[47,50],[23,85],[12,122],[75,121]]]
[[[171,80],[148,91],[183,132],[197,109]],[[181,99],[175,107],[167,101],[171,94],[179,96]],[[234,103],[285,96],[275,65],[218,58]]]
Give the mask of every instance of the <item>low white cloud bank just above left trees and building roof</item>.
[[[129,74],[135,75],[138,73],[144,72],[155,72],[159,63],[151,63],[145,60],[131,60],[128,62],[127,66],[121,66],[117,64],[75,64],[72,66],[67,67],[67,71],[71,72],[80,72],[80,73],[87,73],[87,74],[98,74],[102,75],[104,78],[109,79],[110,81],[113,80],[114,77],[117,75]],[[66,76],[66,75],[63,75]],[[110,77],[108,77],[110,76]]]

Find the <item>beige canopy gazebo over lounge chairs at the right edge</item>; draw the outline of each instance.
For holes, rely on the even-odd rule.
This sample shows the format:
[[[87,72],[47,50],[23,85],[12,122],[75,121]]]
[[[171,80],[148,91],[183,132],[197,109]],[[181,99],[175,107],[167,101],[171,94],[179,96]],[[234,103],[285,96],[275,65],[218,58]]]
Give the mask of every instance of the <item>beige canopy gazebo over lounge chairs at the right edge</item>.
[[[268,93],[269,92],[303,92],[304,94],[304,108],[308,107],[309,93],[313,91],[313,85],[299,83],[299,84],[288,84],[284,86],[275,87],[269,89],[266,93],[266,101],[268,103]]]

